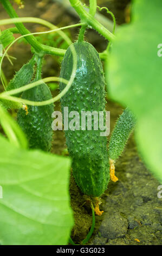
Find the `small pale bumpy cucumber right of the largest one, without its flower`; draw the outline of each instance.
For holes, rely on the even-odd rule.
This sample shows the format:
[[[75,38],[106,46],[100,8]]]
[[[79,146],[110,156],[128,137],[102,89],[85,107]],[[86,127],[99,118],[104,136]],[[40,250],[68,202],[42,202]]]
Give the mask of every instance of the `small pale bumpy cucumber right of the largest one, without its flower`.
[[[116,160],[121,155],[134,126],[134,114],[126,108],[116,122],[109,142],[108,155],[110,159]]]

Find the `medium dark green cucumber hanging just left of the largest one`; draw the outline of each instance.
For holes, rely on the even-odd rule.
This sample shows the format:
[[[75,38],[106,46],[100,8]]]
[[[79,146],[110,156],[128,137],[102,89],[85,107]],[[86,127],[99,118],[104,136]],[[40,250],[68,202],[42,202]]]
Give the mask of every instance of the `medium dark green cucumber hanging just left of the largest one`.
[[[31,101],[44,101],[51,99],[52,95],[47,86],[43,83],[37,87],[26,90],[22,99]],[[17,113],[18,124],[22,127],[29,142],[29,148],[50,151],[53,131],[51,128],[51,114],[54,112],[54,105],[28,106],[28,114],[20,109]]]

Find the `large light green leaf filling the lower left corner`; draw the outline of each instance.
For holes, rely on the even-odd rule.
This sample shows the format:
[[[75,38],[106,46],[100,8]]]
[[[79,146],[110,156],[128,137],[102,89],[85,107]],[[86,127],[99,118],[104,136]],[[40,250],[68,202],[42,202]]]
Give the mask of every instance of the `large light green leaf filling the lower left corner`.
[[[0,243],[65,245],[73,225],[70,160],[23,150],[0,137]]]

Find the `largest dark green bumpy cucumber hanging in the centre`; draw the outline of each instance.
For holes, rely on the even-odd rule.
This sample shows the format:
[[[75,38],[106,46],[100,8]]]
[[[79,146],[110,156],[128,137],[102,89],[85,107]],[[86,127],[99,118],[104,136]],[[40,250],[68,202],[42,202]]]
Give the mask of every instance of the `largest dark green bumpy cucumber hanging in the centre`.
[[[75,42],[77,70],[74,82],[61,99],[61,108],[70,111],[105,111],[105,86],[101,60],[98,52],[88,42]],[[60,77],[69,80],[72,74],[73,56],[70,47],[61,65]],[[66,84],[60,83],[62,91]],[[80,122],[81,123],[81,122]],[[92,117],[93,124],[93,117]],[[84,194],[99,197],[107,189],[109,161],[107,138],[98,131],[65,131],[69,155],[76,184]]]

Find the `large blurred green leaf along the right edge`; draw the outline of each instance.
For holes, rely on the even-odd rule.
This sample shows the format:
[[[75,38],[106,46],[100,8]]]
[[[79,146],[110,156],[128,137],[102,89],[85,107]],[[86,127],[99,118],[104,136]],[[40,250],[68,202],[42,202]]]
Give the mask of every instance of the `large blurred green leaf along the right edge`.
[[[109,95],[136,115],[139,151],[162,182],[161,10],[161,0],[134,1],[132,22],[118,29],[106,75]]]

